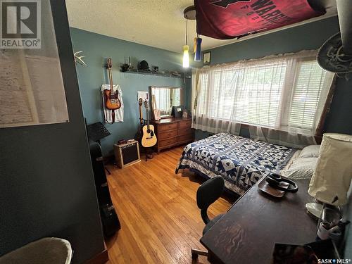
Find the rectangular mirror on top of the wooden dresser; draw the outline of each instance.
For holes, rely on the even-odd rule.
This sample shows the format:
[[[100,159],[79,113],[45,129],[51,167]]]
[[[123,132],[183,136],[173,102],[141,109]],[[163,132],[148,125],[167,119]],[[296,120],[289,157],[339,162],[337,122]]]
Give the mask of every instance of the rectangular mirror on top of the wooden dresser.
[[[151,86],[151,108],[160,110],[161,118],[171,117],[172,106],[182,106],[182,87]]]

